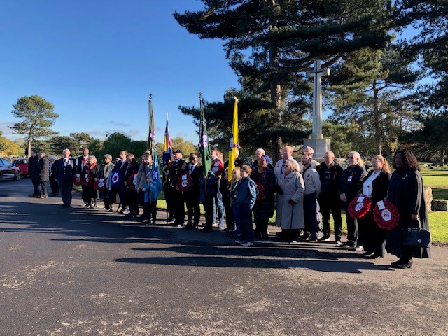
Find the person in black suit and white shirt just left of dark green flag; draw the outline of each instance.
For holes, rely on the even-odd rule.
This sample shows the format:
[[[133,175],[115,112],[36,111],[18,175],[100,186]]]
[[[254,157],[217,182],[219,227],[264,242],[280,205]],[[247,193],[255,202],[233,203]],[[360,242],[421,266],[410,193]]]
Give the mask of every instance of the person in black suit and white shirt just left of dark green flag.
[[[197,229],[199,226],[199,221],[201,218],[200,211],[200,183],[201,176],[204,174],[204,167],[200,166],[198,162],[199,158],[197,157],[197,153],[191,153],[188,161],[188,174],[190,174],[191,179],[193,181],[190,189],[188,189],[185,193],[185,200],[187,204],[187,225],[186,229]]]

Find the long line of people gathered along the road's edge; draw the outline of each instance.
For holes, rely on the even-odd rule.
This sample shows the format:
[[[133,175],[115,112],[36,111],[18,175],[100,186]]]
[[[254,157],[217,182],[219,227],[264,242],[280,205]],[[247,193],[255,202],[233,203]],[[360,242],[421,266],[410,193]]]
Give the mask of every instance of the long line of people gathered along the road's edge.
[[[73,183],[82,188],[83,207],[97,207],[97,198],[104,200],[104,210],[117,211],[155,225],[157,197],[148,197],[153,158],[150,152],[141,156],[139,164],[132,153],[121,151],[113,160],[104,155],[97,162],[88,148],[75,160],[68,149],[55,160],[44,152],[31,153],[29,172],[34,186],[32,197],[48,197],[47,181],[52,193],[62,197],[62,206],[71,207]],[[240,158],[229,173],[229,162],[216,148],[211,151],[211,169],[204,172],[197,153],[188,155],[173,151],[173,160],[166,167],[164,188],[167,201],[167,223],[195,230],[200,225],[200,204],[205,211],[202,232],[224,229],[225,235],[241,246],[252,246],[254,237],[269,238],[269,219],[274,216],[281,228],[279,239],[294,242],[330,242],[330,216],[333,218],[333,244],[363,252],[365,258],[382,258],[385,253],[398,256],[395,268],[412,267],[412,258],[428,258],[430,248],[409,248],[402,244],[402,229],[421,225],[428,230],[423,181],[419,164],[409,150],[397,151],[393,157],[395,171],[386,158],[373,155],[372,169],[367,172],[360,154],[351,151],[344,169],[331,151],[319,164],[314,150],[305,147],[300,162],[293,158],[293,148],[285,146],[282,158],[273,162],[262,148],[255,151],[255,160],[246,165]],[[229,176],[229,174],[231,174]],[[160,176],[159,176],[160,177]],[[356,197],[368,197],[371,206],[362,218],[351,216],[349,207]],[[373,209],[384,199],[400,214],[398,227],[384,230],[377,225]],[[187,209],[187,211],[186,211]],[[346,214],[347,240],[342,243],[342,211]],[[186,223],[185,223],[186,222]],[[255,223],[255,227],[253,225]]]

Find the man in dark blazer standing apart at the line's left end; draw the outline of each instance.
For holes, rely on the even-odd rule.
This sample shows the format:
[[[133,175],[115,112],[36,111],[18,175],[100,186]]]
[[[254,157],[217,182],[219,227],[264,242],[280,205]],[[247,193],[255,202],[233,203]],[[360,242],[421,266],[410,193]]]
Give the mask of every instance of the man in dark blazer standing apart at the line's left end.
[[[70,158],[70,150],[62,151],[63,158],[55,162],[55,179],[59,185],[62,207],[71,207],[71,190],[73,189],[73,174],[76,172],[75,160]]]

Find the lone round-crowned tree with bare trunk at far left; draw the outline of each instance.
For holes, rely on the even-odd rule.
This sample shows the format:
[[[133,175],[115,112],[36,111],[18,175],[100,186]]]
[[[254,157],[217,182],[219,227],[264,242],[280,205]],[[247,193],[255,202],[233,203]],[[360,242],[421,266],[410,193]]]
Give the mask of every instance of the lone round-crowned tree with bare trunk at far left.
[[[22,118],[18,123],[10,126],[15,134],[25,134],[27,141],[27,155],[31,155],[31,142],[43,137],[57,134],[50,127],[55,124],[59,114],[53,110],[55,106],[38,95],[24,96],[13,104],[13,116]]]

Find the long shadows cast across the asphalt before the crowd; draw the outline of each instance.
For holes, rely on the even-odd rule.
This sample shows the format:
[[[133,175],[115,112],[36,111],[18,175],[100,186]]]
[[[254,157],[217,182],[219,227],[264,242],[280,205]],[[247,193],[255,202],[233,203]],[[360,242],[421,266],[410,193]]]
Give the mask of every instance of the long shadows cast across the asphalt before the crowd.
[[[114,261],[155,265],[249,268],[307,268],[320,272],[359,273],[383,269],[359,255],[329,244],[285,244],[276,239],[256,242],[251,248],[235,246],[223,232],[203,235],[169,227],[144,227],[123,215],[99,209],[64,208],[59,198],[24,199],[22,186],[0,199],[0,232],[60,235],[52,241],[89,241],[109,244],[148,244],[134,251],[165,251],[176,256],[118,258]],[[22,197],[18,197],[21,195]],[[13,197],[13,198],[11,198]],[[153,253],[155,254],[155,253]],[[177,256],[181,254],[182,256]],[[347,260],[348,259],[348,260]]]

